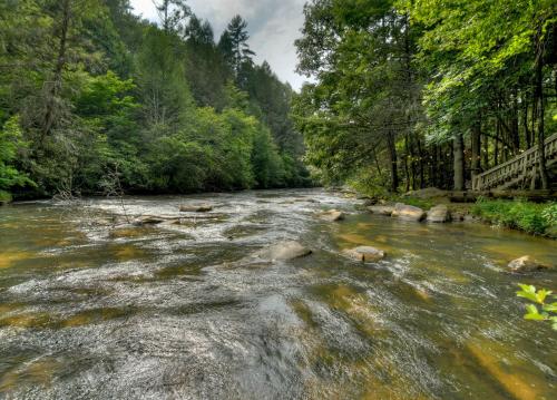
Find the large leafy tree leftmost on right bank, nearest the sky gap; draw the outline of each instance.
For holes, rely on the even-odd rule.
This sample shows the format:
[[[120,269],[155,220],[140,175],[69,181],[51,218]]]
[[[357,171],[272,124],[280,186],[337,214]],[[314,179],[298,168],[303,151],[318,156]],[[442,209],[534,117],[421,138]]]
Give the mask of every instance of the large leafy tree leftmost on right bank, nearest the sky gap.
[[[299,70],[319,82],[303,89],[303,101],[313,107],[296,111],[309,159],[326,167],[331,178],[346,178],[368,170],[384,149],[390,188],[397,192],[397,140],[411,142],[420,110],[416,39],[407,16],[392,1],[371,0],[315,0],[304,12]],[[320,128],[312,131],[314,123]],[[309,135],[316,137],[307,140]]]

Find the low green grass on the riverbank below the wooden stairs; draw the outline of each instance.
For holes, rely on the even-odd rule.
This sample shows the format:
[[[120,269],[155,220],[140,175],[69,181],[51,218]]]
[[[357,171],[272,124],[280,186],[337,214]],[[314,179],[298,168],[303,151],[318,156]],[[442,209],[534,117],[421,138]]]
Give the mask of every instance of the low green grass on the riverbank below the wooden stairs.
[[[517,201],[478,199],[473,215],[481,219],[532,235],[557,237],[557,203],[530,203]]]

